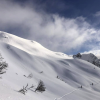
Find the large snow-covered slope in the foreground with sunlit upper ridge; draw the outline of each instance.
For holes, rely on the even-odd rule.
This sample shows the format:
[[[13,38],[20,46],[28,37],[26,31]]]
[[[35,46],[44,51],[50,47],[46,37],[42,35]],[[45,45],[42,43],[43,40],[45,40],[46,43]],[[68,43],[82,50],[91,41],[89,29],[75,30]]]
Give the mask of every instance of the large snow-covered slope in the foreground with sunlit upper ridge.
[[[0,32],[0,53],[8,63],[0,74],[0,100],[100,100],[100,68],[85,60],[6,32]],[[40,80],[46,91],[34,92]],[[32,90],[18,92],[27,84]]]

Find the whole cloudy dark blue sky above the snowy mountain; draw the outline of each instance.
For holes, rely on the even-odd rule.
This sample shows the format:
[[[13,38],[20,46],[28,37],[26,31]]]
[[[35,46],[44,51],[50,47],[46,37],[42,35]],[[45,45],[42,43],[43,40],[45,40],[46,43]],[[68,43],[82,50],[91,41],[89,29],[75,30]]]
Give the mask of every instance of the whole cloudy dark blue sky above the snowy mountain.
[[[1,0],[0,30],[66,54],[100,49],[100,0]]]

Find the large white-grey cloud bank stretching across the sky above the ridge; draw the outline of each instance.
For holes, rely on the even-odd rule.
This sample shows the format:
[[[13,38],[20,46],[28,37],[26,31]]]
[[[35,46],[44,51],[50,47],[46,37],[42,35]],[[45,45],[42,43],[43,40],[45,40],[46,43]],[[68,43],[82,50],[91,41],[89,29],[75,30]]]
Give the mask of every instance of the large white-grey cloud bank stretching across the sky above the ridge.
[[[83,17],[64,18],[57,14],[38,12],[29,5],[0,1],[0,27],[6,30],[9,26],[20,26],[23,37],[23,32],[27,29],[25,34],[27,33],[29,39],[61,52],[79,50],[88,41],[99,41],[100,36],[100,30],[92,28]]]

